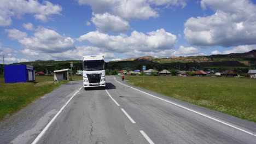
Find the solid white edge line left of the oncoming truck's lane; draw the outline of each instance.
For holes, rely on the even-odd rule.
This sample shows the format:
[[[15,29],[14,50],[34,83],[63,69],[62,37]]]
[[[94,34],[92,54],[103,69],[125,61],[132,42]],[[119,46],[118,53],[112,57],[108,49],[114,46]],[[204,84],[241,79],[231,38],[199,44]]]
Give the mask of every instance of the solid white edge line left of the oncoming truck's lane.
[[[71,99],[75,96],[75,94],[77,94],[83,87],[79,88],[79,90],[77,92],[75,92],[72,97],[67,101],[67,103],[65,105],[63,105],[60,109],[59,112],[57,112],[57,114],[53,117],[53,119],[51,119],[51,121],[46,125],[46,127],[41,131],[41,133],[36,137],[36,139],[34,139],[34,141],[32,142],[32,144],[36,144],[39,139],[44,135],[44,133],[46,132],[46,130],[48,130],[48,128],[50,127],[50,125],[54,122],[54,120],[56,119],[57,116],[60,115],[60,113],[62,112],[62,110],[66,107],[66,105],[69,103],[69,101],[71,101]]]

